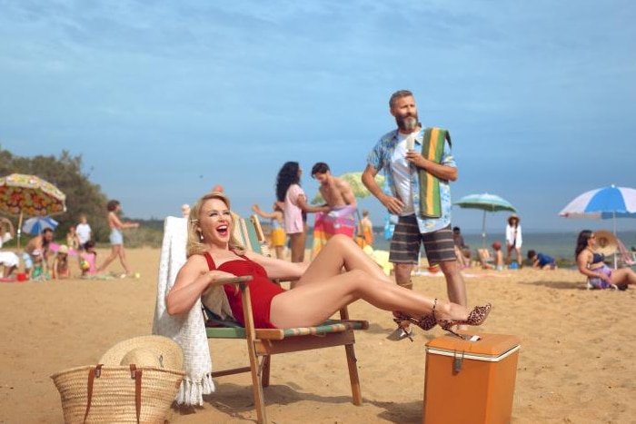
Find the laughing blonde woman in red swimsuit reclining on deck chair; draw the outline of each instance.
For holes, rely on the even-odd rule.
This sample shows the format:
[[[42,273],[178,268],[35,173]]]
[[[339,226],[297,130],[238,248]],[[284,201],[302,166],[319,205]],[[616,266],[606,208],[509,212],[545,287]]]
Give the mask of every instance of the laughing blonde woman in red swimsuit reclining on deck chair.
[[[244,251],[232,235],[234,224],[223,192],[205,194],[194,204],[188,221],[188,259],[166,297],[168,313],[190,311],[210,282],[243,275],[253,276],[248,284],[257,328],[318,325],[358,299],[396,311],[398,324],[409,320],[423,330],[436,324],[448,331],[455,325],[481,325],[491,310],[489,303],[468,311],[394,284],[349,237],[334,236],[311,263],[288,262]],[[282,277],[299,281],[286,291],[269,280]],[[224,291],[234,318],[243,323],[240,293],[234,284],[225,285]]]

